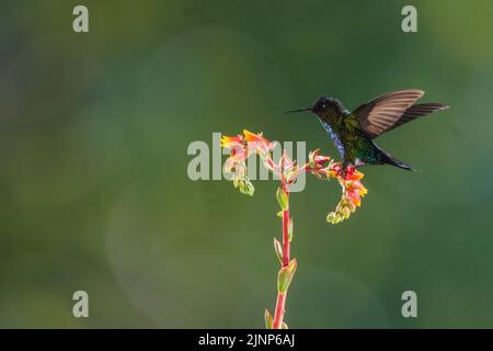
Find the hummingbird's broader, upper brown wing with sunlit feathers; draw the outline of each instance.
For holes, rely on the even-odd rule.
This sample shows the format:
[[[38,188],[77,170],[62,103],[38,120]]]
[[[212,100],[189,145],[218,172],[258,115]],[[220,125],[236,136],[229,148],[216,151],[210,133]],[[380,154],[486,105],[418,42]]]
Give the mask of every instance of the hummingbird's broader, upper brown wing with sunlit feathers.
[[[383,132],[397,127],[399,120],[417,99],[423,97],[424,91],[420,89],[405,89],[388,92],[360,105],[352,112],[358,121],[363,131],[370,137],[376,138]],[[416,111],[410,111],[402,125],[417,117],[413,116]]]

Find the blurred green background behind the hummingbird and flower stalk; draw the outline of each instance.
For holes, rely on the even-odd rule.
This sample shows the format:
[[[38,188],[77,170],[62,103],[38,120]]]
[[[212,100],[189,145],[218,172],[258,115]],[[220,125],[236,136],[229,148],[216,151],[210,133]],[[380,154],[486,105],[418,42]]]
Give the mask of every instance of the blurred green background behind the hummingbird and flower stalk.
[[[378,140],[423,172],[364,169],[369,193],[339,226],[339,186],[308,178],[286,320],[493,327],[492,16],[486,0],[2,1],[0,327],[263,328],[277,184],[193,182],[188,144],[246,127],[335,156],[314,116],[282,112],[401,88],[451,106]]]

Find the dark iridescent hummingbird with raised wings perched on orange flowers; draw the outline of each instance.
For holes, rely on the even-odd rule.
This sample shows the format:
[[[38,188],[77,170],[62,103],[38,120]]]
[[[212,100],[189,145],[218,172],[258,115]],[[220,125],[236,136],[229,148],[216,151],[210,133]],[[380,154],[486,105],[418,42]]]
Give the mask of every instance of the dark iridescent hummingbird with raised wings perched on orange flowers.
[[[335,98],[322,97],[311,107],[287,111],[312,112],[317,114],[323,128],[334,143],[343,161],[347,166],[391,165],[404,170],[414,169],[381,149],[375,139],[388,131],[392,131],[421,116],[446,110],[442,103],[415,102],[423,97],[420,89],[404,89],[377,97],[349,112]]]

